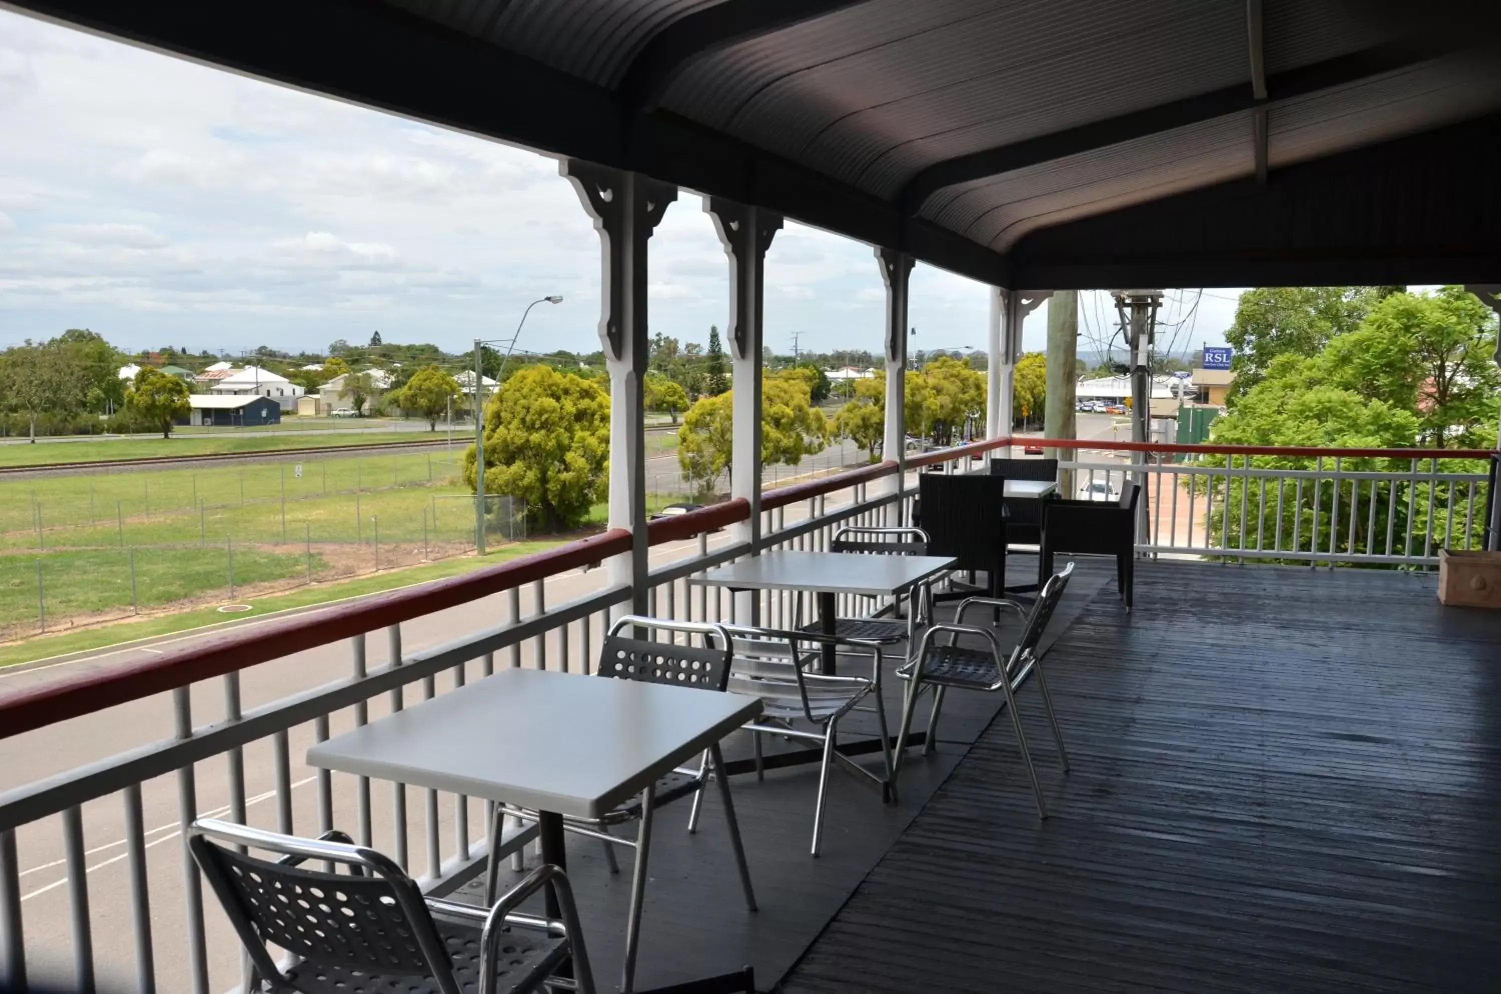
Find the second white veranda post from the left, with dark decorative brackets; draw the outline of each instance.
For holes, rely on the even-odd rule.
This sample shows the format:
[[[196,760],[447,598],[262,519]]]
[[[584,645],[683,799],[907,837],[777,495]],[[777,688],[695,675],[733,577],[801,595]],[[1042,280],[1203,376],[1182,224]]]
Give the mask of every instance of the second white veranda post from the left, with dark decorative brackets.
[[[782,216],[720,196],[707,198],[704,210],[714,222],[729,256],[729,360],[734,387],[734,438],[729,454],[729,493],[750,505],[746,520],[734,525],[735,544],[755,552],[761,543],[761,306],[766,297],[766,250],[782,226]],[[760,624],[755,594],[735,595],[735,618]]]

